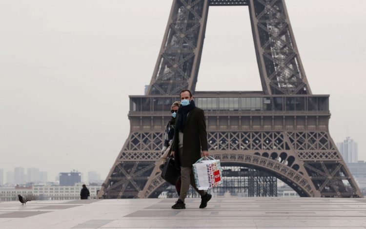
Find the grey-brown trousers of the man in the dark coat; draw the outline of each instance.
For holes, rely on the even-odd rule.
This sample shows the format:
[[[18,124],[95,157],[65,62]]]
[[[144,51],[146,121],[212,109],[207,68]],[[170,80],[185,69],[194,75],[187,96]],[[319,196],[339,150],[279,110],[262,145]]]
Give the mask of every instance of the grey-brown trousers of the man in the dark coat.
[[[183,148],[179,148],[179,157],[182,161]],[[185,197],[187,196],[189,185],[191,185],[201,196],[206,194],[205,190],[198,190],[196,187],[196,182],[194,180],[193,170],[191,167],[181,167],[181,179],[182,179],[182,186],[181,186],[181,194],[178,199],[184,202]]]

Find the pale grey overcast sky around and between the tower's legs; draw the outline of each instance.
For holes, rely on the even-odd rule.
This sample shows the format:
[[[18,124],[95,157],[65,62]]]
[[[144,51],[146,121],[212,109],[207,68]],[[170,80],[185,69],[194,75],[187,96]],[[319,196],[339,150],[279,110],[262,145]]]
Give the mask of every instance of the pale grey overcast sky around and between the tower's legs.
[[[0,168],[104,179],[129,133],[128,95],[150,82],[171,2],[0,0]],[[333,140],[351,136],[366,160],[366,1],[286,5],[311,90],[330,94]],[[196,89],[262,90],[247,7],[210,7]]]

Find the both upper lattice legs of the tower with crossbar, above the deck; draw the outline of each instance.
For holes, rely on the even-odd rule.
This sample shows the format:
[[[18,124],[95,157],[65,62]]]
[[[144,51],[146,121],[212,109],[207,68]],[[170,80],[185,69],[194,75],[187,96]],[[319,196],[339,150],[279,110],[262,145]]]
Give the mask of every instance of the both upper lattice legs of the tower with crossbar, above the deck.
[[[209,5],[249,5],[266,94],[311,94],[284,0],[174,0],[149,95],[195,90]]]

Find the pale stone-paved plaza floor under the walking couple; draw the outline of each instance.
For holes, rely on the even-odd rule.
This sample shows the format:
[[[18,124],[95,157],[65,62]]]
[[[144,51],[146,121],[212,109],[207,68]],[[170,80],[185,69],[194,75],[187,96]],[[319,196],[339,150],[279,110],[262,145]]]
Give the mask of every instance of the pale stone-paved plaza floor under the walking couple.
[[[1,229],[366,229],[366,199],[213,198],[0,202]]]

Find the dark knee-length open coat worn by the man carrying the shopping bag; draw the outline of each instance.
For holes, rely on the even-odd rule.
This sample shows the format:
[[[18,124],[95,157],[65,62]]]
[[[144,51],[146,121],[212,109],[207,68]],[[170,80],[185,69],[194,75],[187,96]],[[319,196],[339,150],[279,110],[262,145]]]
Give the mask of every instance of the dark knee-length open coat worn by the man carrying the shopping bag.
[[[178,121],[178,117],[176,118]],[[177,126],[177,123],[176,125]],[[179,130],[174,130],[172,150],[177,167],[192,167],[201,158],[201,150],[207,151],[207,132],[203,109],[195,107],[189,113],[183,130],[183,158],[179,156]]]

